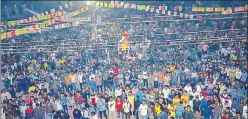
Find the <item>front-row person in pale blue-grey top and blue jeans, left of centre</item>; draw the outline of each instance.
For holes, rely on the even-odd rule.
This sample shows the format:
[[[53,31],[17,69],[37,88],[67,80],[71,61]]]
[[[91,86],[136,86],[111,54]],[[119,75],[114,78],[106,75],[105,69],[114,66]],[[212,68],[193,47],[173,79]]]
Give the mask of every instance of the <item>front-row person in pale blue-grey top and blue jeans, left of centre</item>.
[[[102,116],[104,115],[106,119],[107,113],[106,113],[106,103],[105,99],[102,96],[99,96],[99,99],[97,100],[97,108],[99,110],[100,118],[102,119]]]

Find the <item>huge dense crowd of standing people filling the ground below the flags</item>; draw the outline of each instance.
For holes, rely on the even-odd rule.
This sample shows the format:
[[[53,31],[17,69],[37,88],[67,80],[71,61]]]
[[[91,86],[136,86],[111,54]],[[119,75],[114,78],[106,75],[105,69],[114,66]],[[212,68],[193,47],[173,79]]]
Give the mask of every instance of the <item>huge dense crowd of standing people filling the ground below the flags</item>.
[[[101,29],[98,34],[106,35],[106,38],[127,30],[131,41],[144,40],[144,37],[134,38],[135,35],[148,35],[147,39],[189,41],[202,37],[232,37],[229,42],[157,45],[126,52],[113,48],[3,54],[1,117],[247,119],[247,41],[238,39],[239,35],[247,36],[244,28],[247,22],[243,21],[245,19],[237,18],[205,22],[140,22],[99,25],[97,28]],[[220,31],[236,28],[240,30]],[[80,46],[94,42],[90,40],[93,30],[85,25],[18,36],[15,41],[39,39],[45,43],[56,39],[45,44],[63,46],[65,44],[57,42],[74,39],[68,41]],[[199,30],[214,32],[200,33]],[[191,36],[182,32],[197,33],[191,34],[190,39]],[[154,35],[161,33],[177,34]],[[10,44],[2,46],[9,47]],[[32,41],[29,45],[33,45]]]

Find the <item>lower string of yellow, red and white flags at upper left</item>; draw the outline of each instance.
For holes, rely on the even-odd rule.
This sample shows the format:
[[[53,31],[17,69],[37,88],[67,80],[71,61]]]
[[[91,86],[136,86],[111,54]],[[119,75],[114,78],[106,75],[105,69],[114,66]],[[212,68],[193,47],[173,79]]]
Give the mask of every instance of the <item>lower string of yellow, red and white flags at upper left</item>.
[[[16,29],[13,31],[5,32],[1,34],[1,40],[11,38],[14,36],[22,35],[22,34],[28,34],[28,33],[36,33],[46,31],[48,26],[54,25],[56,22],[62,22],[62,21],[73,21],[74,16],[77,16],[83,12],[86,12],[88,10],[88,7],[84,7],[81,9],[78,9],[70,14],[61,14],[62,16],[56,16],[55,18],[46,20],[42,23],[37,23],[31,26],[27,26],[21,29]],[[71,19],[70,19],[71,18]],[[60,25],[61,27],[67,27],[68,24]]]

